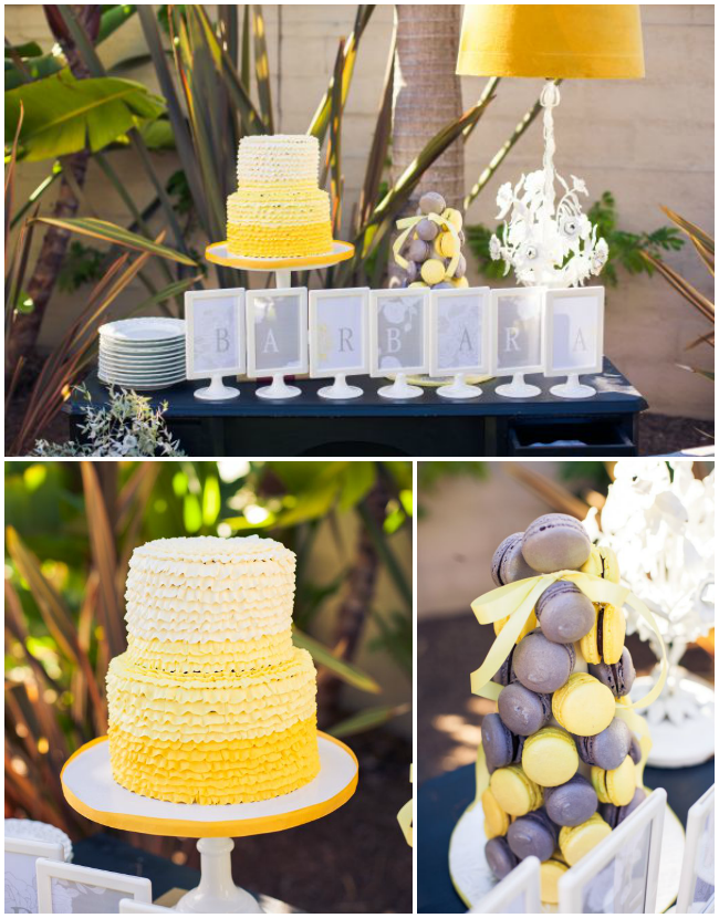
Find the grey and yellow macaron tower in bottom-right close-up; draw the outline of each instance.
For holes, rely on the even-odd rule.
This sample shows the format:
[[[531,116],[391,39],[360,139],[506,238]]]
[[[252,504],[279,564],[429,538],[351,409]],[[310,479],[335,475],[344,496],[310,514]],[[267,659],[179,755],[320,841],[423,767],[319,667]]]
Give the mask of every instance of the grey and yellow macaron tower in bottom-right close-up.
[[[619,582],[614,552],[593,546],[582,523],[562,513],[508,535],[491,575],[501,587],[559,571]],[[494,623],[497,635],[507,620]],[[498,713],[482,724],[487,862],[501,879],[525,857],[539,857],[548,904],[558,903],[562,874],[645,796],[637,787],[637,739],[616,716],[617,699],[636,676],[625,633],[621,608],[592,603],[575,584],[556,581],[494,676],[502,686]]]

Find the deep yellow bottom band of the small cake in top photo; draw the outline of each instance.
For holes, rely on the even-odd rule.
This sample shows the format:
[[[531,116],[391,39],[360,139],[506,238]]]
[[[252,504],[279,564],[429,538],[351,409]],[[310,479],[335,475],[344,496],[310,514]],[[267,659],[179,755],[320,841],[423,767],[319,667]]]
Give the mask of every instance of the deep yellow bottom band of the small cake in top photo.
[[[332,223],[300,226],[227,225],[227,249],[242,258],[303,258],[332,251]]]

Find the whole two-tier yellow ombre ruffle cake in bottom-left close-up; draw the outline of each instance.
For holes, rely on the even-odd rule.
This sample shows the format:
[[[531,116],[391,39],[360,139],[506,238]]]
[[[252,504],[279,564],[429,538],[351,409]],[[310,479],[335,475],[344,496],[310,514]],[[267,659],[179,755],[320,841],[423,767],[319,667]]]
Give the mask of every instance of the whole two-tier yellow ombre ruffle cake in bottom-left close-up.
[[[158,539],[133,553],[127,650],[107,671],[123,787],[247,803],[320,771],[312,658],[292,644],[294,554],[271,539]]]

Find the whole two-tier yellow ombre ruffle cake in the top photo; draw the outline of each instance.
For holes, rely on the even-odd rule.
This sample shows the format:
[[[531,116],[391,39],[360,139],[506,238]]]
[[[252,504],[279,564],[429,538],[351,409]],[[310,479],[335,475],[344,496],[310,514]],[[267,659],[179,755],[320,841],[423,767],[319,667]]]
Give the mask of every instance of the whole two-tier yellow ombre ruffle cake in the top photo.
[[[227,248],[244,258],[332,251],[330,196],[317,187],[320,144],[309,135],[243,137],[238,190],[227,199]]]

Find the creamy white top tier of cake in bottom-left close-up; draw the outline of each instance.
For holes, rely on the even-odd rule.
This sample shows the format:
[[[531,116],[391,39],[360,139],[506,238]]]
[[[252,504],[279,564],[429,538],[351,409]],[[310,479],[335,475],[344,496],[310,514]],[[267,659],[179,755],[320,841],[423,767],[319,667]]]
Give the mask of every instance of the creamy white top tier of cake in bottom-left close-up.
[[[295,556],[272,539],[157,539],[127,575],[132,640],[253,640],[292,626]]]

